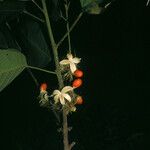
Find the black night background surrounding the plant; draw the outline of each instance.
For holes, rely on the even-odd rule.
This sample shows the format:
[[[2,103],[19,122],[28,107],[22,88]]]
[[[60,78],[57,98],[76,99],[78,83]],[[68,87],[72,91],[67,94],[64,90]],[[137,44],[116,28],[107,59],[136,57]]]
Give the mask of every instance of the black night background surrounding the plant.
[[[74,3],[72,12],[79,9]],[[145,0],[116,0],[101,15],[85,14],[72,31],[84,71],[84,84],[78,89],[84,104],[69,116],[70,139],[77,143],[73,150],[150,149],[148,9]],[[40,83],[48,83],[49,91],[57,88],[53,75],[33,73]],[[38,94],[26,70],[0,93],[0,149],[63,149],[60,126],[52,111],[39,107]]]

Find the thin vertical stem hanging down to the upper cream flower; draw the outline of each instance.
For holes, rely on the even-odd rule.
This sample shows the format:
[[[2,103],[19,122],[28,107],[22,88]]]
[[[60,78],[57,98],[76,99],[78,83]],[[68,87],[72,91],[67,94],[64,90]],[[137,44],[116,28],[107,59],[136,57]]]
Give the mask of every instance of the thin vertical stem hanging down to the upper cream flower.
[[[65,4],[65,10],[66,10],[66,19],[67,19],[67,24],[66,24],[66,27],[67,27],[67,35],[68,35],[68,47],[69,47],[69,53],[71,53],[71,41],[70,41],[70,32],[69,32],[69,15],[68,15],[68,10],[69,10],[69,4],[68,4],[68,1],[66,1],[66,4]]]

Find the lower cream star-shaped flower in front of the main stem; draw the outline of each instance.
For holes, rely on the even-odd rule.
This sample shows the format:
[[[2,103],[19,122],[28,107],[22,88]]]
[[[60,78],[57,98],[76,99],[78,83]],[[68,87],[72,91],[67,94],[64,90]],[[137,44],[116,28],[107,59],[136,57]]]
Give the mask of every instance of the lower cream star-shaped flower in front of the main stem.
[[[73,87],[71,86],[65,86],[61,91],[54,90],[52,96],[54,96],[55,103],[58,103],[60,101],[62,105],[65,105],[65,100],[71,102],[71,97],[69,94],[67,94],[67,92],[72,90]]]

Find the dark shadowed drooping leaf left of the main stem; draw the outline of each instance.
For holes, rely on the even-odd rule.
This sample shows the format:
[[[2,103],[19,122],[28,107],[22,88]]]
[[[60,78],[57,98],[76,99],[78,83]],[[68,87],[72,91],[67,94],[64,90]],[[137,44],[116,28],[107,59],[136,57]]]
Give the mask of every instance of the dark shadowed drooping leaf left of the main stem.
[[[40,23],[24,18],[12,29],[23,53],[26,55],[28,64],[45,67],[50,62],[51,55]]]

